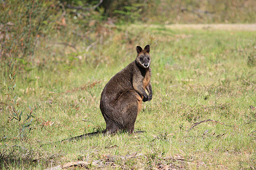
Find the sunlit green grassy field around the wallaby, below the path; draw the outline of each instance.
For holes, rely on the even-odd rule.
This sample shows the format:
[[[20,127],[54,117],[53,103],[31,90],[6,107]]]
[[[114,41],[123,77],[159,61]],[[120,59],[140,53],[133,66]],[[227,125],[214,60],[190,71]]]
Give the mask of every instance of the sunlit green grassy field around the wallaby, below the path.
[[[161,25],[110,31],[93,44],[70,39],[75,49],[58,44],[66,41],[59,37],[41,39],[47,45],[38,45],[34,57],[54,64],[13,70],[15,107],[23,114],[10,120],[12,102],[0,96],[0,169],[75,161],[90,169],[256,168],[256,31]],[[136,58],[136,46],[146,44],[153,99],[143,103],[135,124],[145,132],[56,142],[105,128],[101,91]],[[8,77],[0,81],[7,93]]]

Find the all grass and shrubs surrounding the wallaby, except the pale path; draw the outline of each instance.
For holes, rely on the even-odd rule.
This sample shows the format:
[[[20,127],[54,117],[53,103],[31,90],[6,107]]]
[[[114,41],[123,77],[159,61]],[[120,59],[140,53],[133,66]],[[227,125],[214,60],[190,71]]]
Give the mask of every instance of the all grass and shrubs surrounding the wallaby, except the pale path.
[[[255,30],[166,25],[254,23],[254,9],[252,0],[1,1],[0,168],[255,168]],[[101,91],[146,44],[154,95],[135,125],[146,132],[56,142],[104,129]]]

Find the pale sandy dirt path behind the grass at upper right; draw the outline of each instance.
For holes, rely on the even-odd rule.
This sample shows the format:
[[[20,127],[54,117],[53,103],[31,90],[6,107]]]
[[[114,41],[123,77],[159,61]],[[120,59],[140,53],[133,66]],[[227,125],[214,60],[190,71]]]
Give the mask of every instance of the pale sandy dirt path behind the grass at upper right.
[[[256,31],[256,24],[174,24],[166,25],[167,28],[172,29],[207,29],[207,30],[227,30],[227,31]]]

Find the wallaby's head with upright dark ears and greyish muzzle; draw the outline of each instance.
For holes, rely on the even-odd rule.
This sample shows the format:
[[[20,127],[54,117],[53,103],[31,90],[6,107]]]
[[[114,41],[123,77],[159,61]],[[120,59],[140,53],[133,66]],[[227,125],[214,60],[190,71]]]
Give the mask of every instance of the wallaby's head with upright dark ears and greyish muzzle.
[[[137,46],[137,58],[136,62],[140,66],[147,68],[150,66],[151,58],[150,58],[150,45],[146,45],[144,50],[140,46]]]

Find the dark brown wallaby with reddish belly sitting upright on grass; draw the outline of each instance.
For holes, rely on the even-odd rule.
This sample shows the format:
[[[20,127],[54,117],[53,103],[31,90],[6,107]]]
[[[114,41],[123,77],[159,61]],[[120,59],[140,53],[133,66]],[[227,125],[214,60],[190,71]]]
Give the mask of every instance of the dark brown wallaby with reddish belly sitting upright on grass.
[[[133,133],[142,101],[149,102],[152,99],[150,45],[146,45],[144,50],[137,46],[136,50],[136,60],[112,77],[101,93],[100,110],[106,122],[103,133],[113,134],[120,130]],[[99,132],[66,140],[81,139],[97,133]]]

